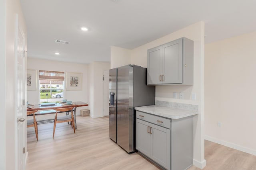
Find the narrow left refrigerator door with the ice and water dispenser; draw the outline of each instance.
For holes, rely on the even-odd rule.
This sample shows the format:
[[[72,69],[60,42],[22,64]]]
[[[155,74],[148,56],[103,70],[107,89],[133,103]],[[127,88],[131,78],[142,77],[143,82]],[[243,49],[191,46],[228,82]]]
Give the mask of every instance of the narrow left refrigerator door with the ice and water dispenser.
[[[117,109],[117,69],[113,68],[109,70],[109,93],[110,93],[110,105],[109,105],[109,137],[116,142],[116,109]]]

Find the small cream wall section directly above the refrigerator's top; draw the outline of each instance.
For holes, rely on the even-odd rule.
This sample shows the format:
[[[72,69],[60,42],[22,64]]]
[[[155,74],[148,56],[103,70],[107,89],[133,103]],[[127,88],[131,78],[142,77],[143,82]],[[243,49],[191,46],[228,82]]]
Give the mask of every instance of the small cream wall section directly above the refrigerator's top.
[[[110,58],[110,67],[116,68],[119,66],[124,66],[131,64],[131,50],[124,49],[120,47],[111,46],[110,49],[111,58]]]

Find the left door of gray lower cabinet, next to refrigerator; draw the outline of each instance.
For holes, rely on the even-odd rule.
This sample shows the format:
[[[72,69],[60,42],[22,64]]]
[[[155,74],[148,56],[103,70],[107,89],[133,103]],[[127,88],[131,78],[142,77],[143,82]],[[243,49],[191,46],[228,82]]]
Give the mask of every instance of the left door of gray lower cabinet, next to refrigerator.
[[[136,119],[136,149],[150,156],[150,123]]]

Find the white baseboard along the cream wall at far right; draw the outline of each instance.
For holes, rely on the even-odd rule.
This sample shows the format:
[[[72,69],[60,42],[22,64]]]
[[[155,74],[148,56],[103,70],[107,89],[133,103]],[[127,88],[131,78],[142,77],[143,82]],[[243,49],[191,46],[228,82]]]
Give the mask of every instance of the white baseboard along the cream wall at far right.
[[[256,150],[253,150],[253,149],[250,149],[250,148],[247,148],[247,147],[243,147],[243,146],[240,146],[240,145],[236,145],[234,143],[222,141],[220,139],[216,139],[216,138],[209,137],[209,136],[205,136],[204,139],[206,139],[208,141],[211,141],[211,142],[214,142],[214,143],[218,143],[220,145],[224,145],[226,147],[230,147],[230,148],[233,148],[233,149],[236,149],[236,150],[240,150],[242,152],[246,152],[248,154],[252,154],[252,155],[256,156]]]

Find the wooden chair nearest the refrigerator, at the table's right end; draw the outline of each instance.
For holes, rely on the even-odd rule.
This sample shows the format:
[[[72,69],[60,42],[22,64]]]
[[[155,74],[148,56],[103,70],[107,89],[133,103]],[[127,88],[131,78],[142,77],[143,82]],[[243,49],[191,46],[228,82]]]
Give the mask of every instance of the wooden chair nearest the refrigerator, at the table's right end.
[[[54,110],[56,110],[56,115],[55,115],[55,119],[54,119],[54,127],[53,127],[52,138],[54,138],[56,123],[69,122],[70,121],[71,127],[74,129],[74,133],[76,133],[75,124],[74,124],[74,116],[73,116],[73,108],[74,107],[54,109]],[[70,115],[64,115],[64,116],[57,116],[58,111],[61,111],[61,112],[71,111],[71,114]]]

